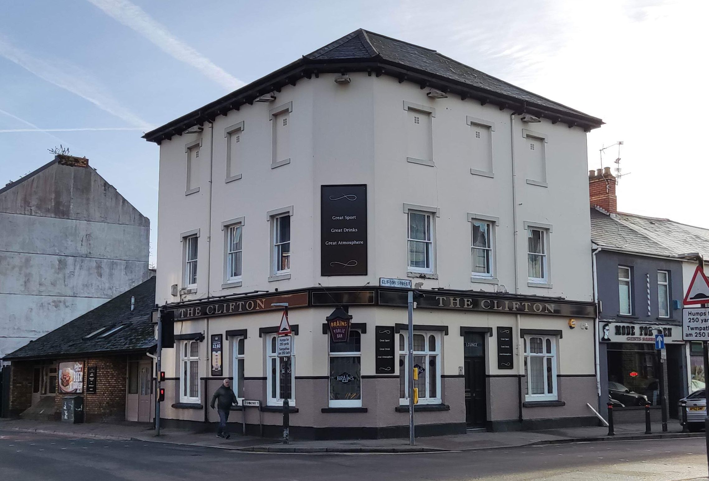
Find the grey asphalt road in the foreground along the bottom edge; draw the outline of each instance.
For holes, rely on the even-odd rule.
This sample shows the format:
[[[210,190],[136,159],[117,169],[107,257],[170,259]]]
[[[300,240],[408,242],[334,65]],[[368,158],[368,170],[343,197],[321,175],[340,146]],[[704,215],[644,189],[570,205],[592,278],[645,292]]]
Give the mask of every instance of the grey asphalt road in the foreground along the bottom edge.
[[[703,438],[459,453],[238,453],[0,431],[0,480],[699,480]]]

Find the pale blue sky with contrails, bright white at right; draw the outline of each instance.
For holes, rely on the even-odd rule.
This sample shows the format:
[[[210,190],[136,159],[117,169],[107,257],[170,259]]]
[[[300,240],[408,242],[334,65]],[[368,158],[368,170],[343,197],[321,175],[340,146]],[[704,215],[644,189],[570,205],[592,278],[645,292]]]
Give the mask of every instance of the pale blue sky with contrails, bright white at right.
[[[158,146],[140,138],[365,28],[603,118],[588,168],[618,209],[709,228],[700,140],[709,2],[0,0],[0,185],[64,145],[151,221]],[[704,141],[704,140],[703,140]],[[703,142],[702,141],[702,142]]]

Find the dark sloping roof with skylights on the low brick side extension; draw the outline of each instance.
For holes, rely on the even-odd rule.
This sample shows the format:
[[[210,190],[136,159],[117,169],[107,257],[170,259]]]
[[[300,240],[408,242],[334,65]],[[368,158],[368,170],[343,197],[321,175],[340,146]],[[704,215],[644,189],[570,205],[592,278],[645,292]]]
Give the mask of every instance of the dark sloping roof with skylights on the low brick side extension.
[[[130,297],[135,296],[135,309],[130,310]],[[155,329],[151,323],[155,307],[155,277],[123,292],[92,311],[56,328],[30,342],[4,360],[63,358],[87,353],[147,352],[155,348]],[[112,328],[125,326],[115,333],[101,337]],[[104,328],[95,336],[86,336]]]

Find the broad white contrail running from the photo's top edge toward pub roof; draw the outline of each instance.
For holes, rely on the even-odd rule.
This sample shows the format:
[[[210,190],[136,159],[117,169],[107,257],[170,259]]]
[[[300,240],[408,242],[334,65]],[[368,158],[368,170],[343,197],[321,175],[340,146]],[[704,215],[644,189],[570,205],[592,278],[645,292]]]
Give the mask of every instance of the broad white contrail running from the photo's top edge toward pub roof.
[[[165,28],[162,23],[155,21],[139,6],[128,0],[89,0],[91,4],[98,7],[108,16],[123,23],[123,25],[133,28],[160,49],[171,55],[180,62],[184,62],[199,72],[217,82],[221,86],[235,90],[245,85],[240,79],[233,77],[222,68],[215,65],[201,53],[186,45],[182,40],[176,38]]]

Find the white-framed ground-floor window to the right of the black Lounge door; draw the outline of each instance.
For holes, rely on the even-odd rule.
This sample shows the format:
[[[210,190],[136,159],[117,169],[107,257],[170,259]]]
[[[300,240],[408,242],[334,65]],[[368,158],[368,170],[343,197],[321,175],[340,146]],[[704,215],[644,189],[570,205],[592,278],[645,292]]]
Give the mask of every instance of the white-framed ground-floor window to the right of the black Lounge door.
[[[556,401],[557,337],[527,335],[524,347],[527,401]]]

